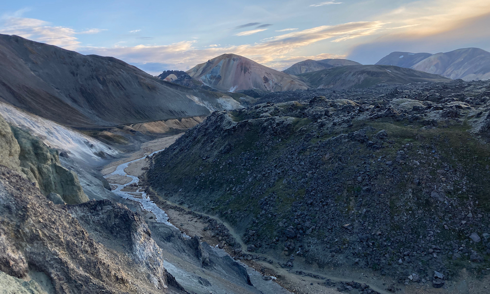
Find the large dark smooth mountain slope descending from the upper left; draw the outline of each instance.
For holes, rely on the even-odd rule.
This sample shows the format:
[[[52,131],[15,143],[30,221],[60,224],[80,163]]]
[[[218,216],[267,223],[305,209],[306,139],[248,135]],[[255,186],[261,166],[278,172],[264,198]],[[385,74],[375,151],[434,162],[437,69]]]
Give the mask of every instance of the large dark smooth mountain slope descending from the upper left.
[[[113,57],[0,35],[0,100],[58,123],[115,126],[240,105],[222,96],[161,81]]]

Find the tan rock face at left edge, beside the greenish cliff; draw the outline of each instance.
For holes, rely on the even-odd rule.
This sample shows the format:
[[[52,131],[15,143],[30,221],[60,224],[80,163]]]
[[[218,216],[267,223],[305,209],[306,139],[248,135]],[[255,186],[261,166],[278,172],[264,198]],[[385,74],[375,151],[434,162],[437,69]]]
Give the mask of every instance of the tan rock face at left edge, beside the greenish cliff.
[[[0,116],[0,165],[21,172],[19,153],[21,147],[14,137],[10,125]]]

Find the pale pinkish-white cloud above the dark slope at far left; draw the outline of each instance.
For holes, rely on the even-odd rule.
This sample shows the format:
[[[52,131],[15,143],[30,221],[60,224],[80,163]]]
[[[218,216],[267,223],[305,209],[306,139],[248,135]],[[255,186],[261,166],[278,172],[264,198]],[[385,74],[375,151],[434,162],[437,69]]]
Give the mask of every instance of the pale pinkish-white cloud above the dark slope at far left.
[[[0,33],[18,35],[64,49],[75,50],[80,47],[80,42],[76,38],[77,34],[97,34],[103,31],[92,28],[77,32],[70,27],[52,26],[42,20],[19,17],[23,11],[15,12],[13,16],[3,15],[0,19]]]

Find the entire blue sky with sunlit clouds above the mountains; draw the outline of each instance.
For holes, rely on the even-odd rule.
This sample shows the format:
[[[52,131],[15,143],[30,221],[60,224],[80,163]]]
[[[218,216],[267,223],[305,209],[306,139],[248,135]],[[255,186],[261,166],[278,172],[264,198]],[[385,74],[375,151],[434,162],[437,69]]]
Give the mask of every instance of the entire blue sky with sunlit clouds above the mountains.
[[[490,51],[490,0],[3,1],[0,33],[157,75],[235,53],[276,70],[392,51]]]

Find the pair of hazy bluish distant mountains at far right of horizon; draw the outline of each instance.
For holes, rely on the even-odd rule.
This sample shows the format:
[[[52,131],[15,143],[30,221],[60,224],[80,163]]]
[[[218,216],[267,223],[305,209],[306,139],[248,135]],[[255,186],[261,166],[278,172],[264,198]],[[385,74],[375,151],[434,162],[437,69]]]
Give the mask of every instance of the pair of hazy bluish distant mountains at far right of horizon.
[[[411,68],[466,81],[490,79],[490,52],[478,48],[437,54],[392,52],[376,64]]]

